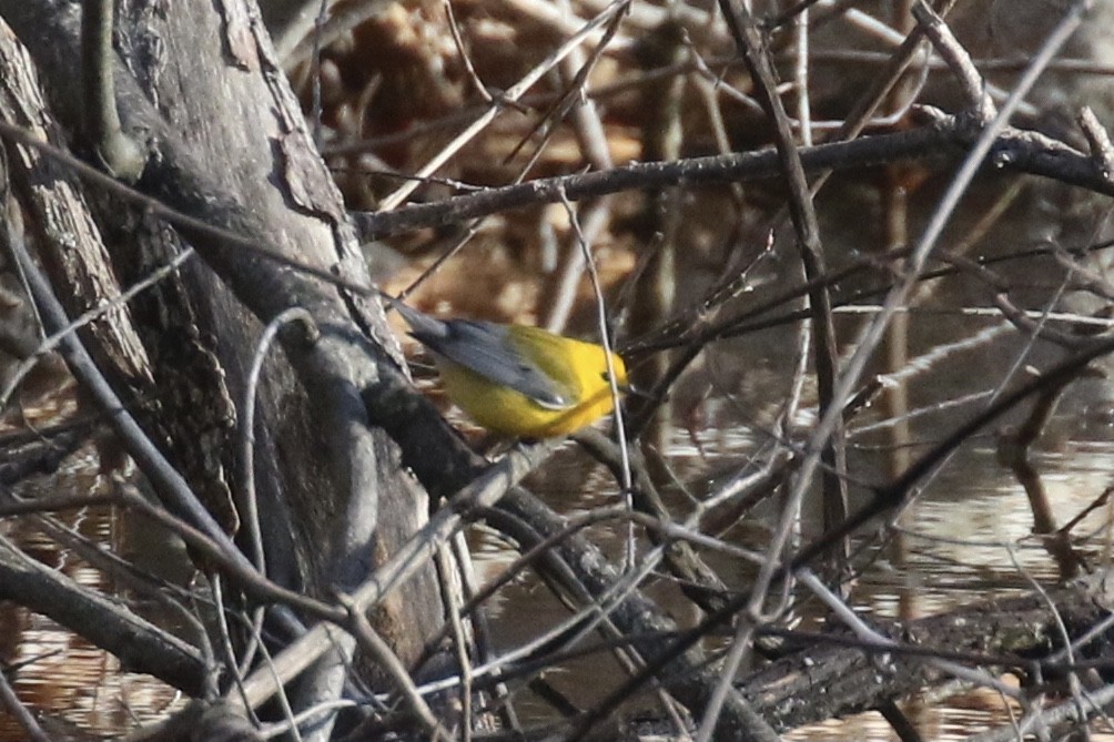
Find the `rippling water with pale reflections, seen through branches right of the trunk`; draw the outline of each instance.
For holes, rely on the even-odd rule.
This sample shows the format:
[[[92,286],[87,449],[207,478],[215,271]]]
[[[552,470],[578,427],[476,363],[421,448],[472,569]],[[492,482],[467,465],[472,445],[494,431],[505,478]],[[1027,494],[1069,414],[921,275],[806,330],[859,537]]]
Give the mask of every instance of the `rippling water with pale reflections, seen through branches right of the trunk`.
[[[964,367],[958,368],[961,371]],[[959,389],[969,391],[970,382],[977,385],[980,381],[964,378],[962,373],[959,377],[939,388],[934,387],[931,396],[957,394]],[[746,393],[745,385],[741,393]],[[991,393],[993,390],[976,390],[968,393],[969,400],[964,406],[929,409],[922,390],[926,399],[921,403],[926,411],[912,419],[912,436],[918,443],[912,448],[913,456],[947,436],[957,420],[985,406]],[[1105,384],[1089,381],[1072,389],[1038,448],[1030,455],[1053,504],[1057,526],[1064,526],[1091,508],[1072,529],[1073,544],[1091,564],[1100,564],[1106,558],[1111,531],[1110,508],[1105,505],[1094,507],[1111,485],[1110,471],[1114,461],[1114,437],[1102,414],[1094,414],[1095,410],[1105,409],[1107,393]],[[750,471],[755,465],[755,451],[771,442],[769,432],[754,423],[756,416],[745,421],[736,419],[736,424],[724,424],[731,409],[740,408],[721,400],[710,409],[710,414],[717,418],[714,428],[690,433],[678,427],[672,431],[667,461],[683,487],[671,491],[668,504],[678,518],[691,510],[692,497],[706,497],[731,478]],[[1015,414],[1009,422],[1016,424],[1019,419]],[[869,419],[864,420],[852,433],[857,447],[852,451],[851,471],[852,477],[859,472],[861,485],[880,482],[885,476],[879,473],[885,471],[881,463],[887,455],[885,438],[879,429],[868,429],[869,424]],[[897,559],[890,549],[883,549],[863,562],[851,598],[857,607],[879,618],[922,617],[993,595],[1030,590],[1032,580],[1048,584],[1059,578],[1055,559],[1033,535],[1034,517],[1024,488],[998,460],[995,429],[981,433],[955,455],[902,514],[899,524],[905,535],[903,558]],[[554,469],[547,467],[545,476],[536,478],[532,487],[554,507],[571,515],[616,501],[614,482],[600,468],[586,465],[576,449],[563,450],[553,463]],[[588,466],[589,473],[577,469],[584,466]],[[563,469],[569,469],[568,476]],[[582,482],[578,494],[570,492],[570,480]],[[860,499],[864,497],[862,487],[858,488],[858,494]],[[730,531],[730,538],[761,549],[769,539],[779,506],[779,501],[771,500],[755,509]],[[802,537],[818,531],[817,514],[807,512]],[[872,538],[873,533],[864,530],[863,538]],[[593,540],[616,557],[622,554],[622,529],[604,526],[596,526],[592,531]],[[497,539],[479,538],[477,543],[481,546],[476,553],[477,562],[485,579],[498,574],[514,558]],[[648,546],[644,544],[643,548]],[[739,578],[747,572],[746,565],[710,554],[705,557],[720,574],[733,574]],[[742,583],[745,584],[745,579]],[[682,624],[690,623],[684,615],[692,611],[691,604],[670,587],[671,580],[665,578],[651,585],[651,590],[667,609],[677,614]],[[805,609],[815,608],[805,606]],[[545,588],[536,585],[531,576],[521,576],[499,597],[494,613],[497,623],[494,634],[500,637],[500,647],[509,650],[529,642],[543,627],[555,625],[567,615],[567,611],[548,598]],[[820,614],[807,613],[801,617],[812,622]],[[565,665],[551,680],[575,702],[590,705],[598,692],[587,689],[609,687],[620,677],[614,668],[602,671],[596,663]],[[550,707],[529,694],[519,693],[518,697],[527,720],[554,717]],[[983,692],[955,696],[946,705],[934,701],[916,707],[910,703],[907,713],[926,739],[962,739],[1009,721],[1005,701],[997,694]],[[889,740],[896,735],[879,714],[870,713],[802,728],[786,739]]]

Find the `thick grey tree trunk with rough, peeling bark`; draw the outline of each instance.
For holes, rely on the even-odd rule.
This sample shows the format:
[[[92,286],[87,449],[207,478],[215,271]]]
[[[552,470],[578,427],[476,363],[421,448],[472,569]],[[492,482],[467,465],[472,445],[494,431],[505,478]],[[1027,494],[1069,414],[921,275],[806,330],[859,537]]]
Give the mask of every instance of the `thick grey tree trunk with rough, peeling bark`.
[[[117,39],[126,68],[117,66],[118,108],[125,129],[152,154],[137,187],[212,226],[368,285],[340,195],[258,19],[234,1],[123,6]],[[77,7],[0,2],[0,17],[35,61],[62,129],[59,140],[79,141]],[[30,158],[25,148],[12,149]],[[37,177],[60,177],[59,170]],[[378,309],[204,231],[175,234],[134,204],[97,191],[88,201],[110,245],[106,274],[115,272],[121,284],[177,254],[178,235],[202,254],[203,261],[187,262],[175,281],[135,307],[150,380],[121,363],[114,364],[114,375],[133,399],[154,401],[148,426],[168,442],[192,486],[209,492],[211,508],[242,484],[234,458],[243,435],[237,408],[261,321],[291,306],[313,314],[321,339],[286,336],[285,353],[271,352],[258,391],[256,490],[268,572],[316,594],[355,584],[418,529],[428,508],[387,437],[368,426],[358,394],[378,377],[378,364],[394,362],[384,350],[394,345]],[[94,240],[70,242],[47,230],[41,235],[40,251],[57,258],[48,262],[67,265],[75,260],[70,253],[88,252],[90,264],[105,265]],[[56,272],[58,283],[74,286],[71,310],[114,293],[75,283],[72,275]],[[127,328],[127,318],[114,318],[114,324]],[[404,662],[418,655],[441,617],[431,567],[375,614],[377,627]]]

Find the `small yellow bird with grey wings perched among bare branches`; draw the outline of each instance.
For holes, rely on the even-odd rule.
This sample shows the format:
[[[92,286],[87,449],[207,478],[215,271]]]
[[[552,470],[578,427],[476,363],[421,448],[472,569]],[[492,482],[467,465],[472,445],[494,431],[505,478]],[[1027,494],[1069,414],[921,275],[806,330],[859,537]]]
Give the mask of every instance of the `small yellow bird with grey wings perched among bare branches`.
[[[602,345],[520,324],[438,320],[391,303],[410,334],[432,351],[449,399],[492,432],[566,436],[614,409]],[[626,365],[610,357],[615,383],[623,388]]]

